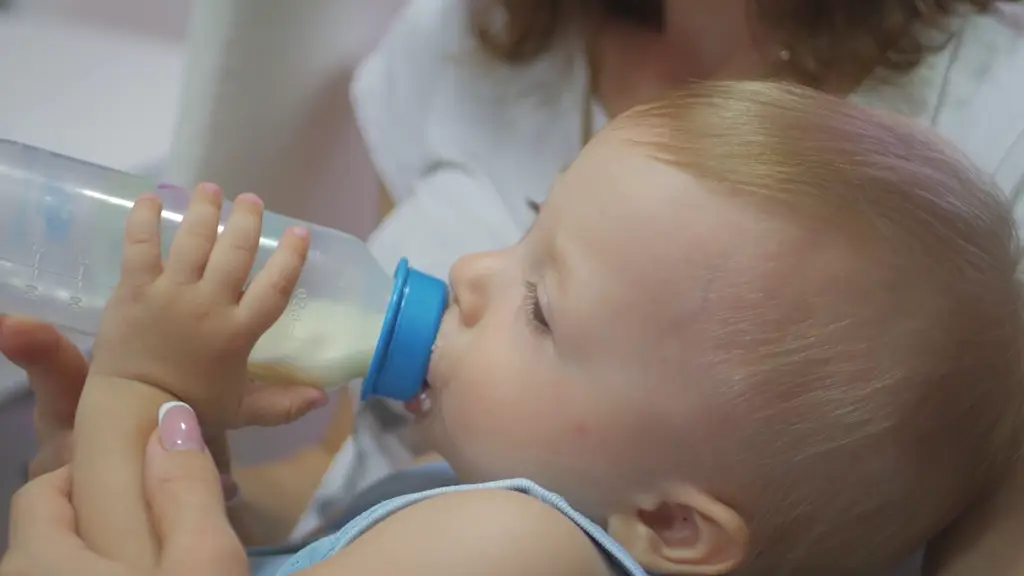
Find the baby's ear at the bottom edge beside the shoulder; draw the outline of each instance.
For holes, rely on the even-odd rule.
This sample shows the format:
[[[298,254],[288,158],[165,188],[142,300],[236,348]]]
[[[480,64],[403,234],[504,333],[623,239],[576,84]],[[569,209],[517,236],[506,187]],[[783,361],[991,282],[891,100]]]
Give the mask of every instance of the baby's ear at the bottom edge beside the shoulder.
[[[728,574],[748,560],[746,523],[718,499],[680,485],[645,500],[609,519],[608,533],[648,572]]]

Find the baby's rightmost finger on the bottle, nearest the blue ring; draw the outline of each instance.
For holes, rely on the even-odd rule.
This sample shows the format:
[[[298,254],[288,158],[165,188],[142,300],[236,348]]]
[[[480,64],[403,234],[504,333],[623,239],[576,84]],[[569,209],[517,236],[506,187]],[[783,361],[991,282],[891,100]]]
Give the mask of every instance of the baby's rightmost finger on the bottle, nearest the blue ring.
[[[278,249],[256,275],[239,304],[246,320],[262,334],[288,307],[309,253],[309,231],[288,229]]]

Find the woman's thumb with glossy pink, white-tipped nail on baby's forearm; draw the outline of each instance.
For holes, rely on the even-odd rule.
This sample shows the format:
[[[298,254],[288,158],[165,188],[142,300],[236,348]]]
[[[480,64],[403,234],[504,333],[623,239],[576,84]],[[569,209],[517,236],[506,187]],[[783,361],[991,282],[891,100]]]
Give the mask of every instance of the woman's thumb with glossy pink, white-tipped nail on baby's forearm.
[[[214,559],[217,564],[237,562],[242,545],[227,520],[220,475],[203,443],[196,413],[186,404],[171,402],[160,408],[159,422],[146,446],[145,490],[162,565],[186,570],[197,559],[205,564]],[[226,574],[236,567],[195,568],[197,573]]]

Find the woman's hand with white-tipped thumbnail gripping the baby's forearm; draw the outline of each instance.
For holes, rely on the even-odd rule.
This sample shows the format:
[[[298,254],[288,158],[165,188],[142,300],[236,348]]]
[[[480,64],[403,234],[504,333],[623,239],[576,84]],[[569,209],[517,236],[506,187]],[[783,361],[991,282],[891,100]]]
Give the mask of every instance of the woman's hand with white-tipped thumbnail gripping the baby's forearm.
[[[165,448],[166,447],[166,448]],[[150,439],[145,490],[160,537],[161,576],[246,576],[249,563],[224,509],[217,467],[191,409],[166,410]],[[71,468],[30,482],[11,500],[0,576],[141,576],[92,552],[76,532]]]

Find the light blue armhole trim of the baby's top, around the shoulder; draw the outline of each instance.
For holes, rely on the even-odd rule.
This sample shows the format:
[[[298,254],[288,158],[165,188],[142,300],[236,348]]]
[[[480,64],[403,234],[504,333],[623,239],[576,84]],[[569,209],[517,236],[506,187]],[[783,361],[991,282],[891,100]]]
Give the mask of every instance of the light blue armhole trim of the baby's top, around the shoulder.
[[[334,534],[321,538],[300,549],[297,553],[291,556],[272,553],[251,556],[250,567],[252,574],[253,576],[291,576],[297,574],[323,563],[371,528],[402,508],[434,496],[469,490],[512,490],[532,496],[562,512],[579,526],[590,537],[591,541],[594,542],[594,545],[604,553],[614,574],[622,576],[648,576],[643,568],[617,542],[612,540],[604,529],[569,506],[561,496],[549,492],[528,480],[503,480],[486,484],[444,486],[433,490],[390,498],[370,507]]]

